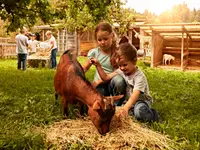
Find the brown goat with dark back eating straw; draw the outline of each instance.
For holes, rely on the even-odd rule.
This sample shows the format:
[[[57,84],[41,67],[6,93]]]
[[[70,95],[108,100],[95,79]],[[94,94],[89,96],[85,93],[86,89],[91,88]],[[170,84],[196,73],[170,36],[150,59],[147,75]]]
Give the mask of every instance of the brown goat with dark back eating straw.
[[[63,115],[68,116],[68,103],[82,102],[88,106],[88,115],[100,134],[109,131],[115,113],[114,100],[123,97],[104,97],[86,80],[82,66],[76,57],[66,51],[61,56],[54,77],[56,99],[62,99]]]

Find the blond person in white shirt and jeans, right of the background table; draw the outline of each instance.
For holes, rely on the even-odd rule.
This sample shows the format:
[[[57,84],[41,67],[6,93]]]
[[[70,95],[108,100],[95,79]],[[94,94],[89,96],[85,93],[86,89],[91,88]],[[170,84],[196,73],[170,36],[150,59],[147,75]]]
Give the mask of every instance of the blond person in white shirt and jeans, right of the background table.
[[[56,53],[58,51],[57,43],[55,37],[52,35],[51,31],[46,32],[46,36],[49,39],[50,44],[50,51],[51,51],[51,61],[52,61],[52,68],[56,69],[57,62],[56,62]]]

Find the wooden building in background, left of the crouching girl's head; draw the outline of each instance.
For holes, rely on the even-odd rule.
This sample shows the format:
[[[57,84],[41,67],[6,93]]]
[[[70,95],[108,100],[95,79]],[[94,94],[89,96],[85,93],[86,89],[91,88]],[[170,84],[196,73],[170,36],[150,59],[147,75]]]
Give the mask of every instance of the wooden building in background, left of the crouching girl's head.
[[[62,53],[64,50],[73,48],[77,55],[86,56],[87,52],[96,47],[94,31],[88,30],[85,32],[68,32],[67,29],[54,25],[35,26],[35,30],[39,30],[41,41],[46,41],[45,33],[51,30],[57,40],[58,50]]]

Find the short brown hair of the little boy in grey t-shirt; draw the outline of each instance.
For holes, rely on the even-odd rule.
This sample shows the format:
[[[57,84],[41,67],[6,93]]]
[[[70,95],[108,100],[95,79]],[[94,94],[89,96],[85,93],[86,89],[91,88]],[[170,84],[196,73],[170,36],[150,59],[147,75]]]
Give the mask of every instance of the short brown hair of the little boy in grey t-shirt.
[[[137,49],[130,43],[122,43],[117,51],[118,58],[124,56],[129,61],[137,60]]]

